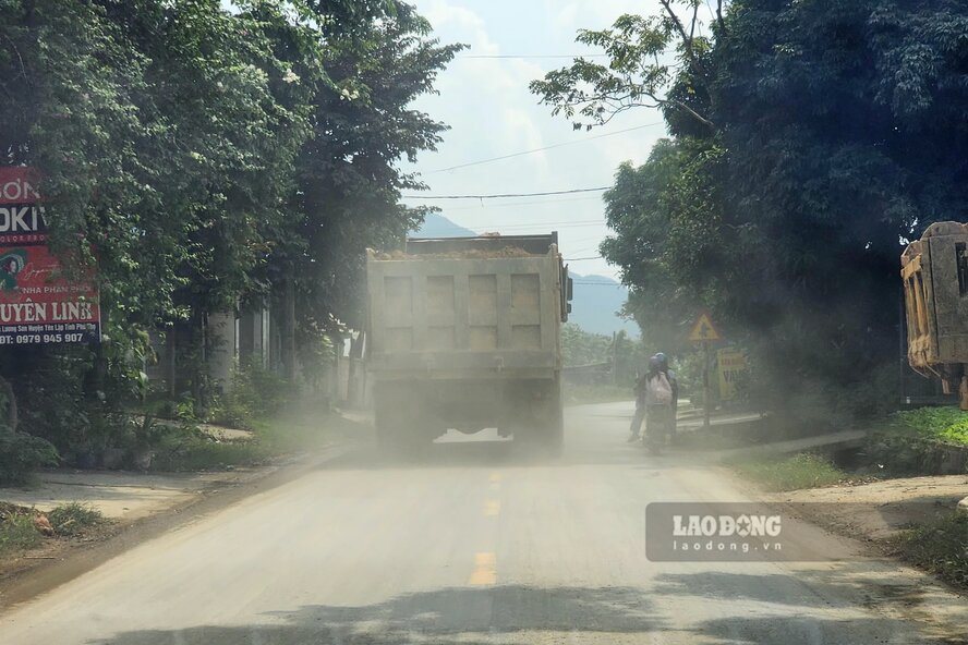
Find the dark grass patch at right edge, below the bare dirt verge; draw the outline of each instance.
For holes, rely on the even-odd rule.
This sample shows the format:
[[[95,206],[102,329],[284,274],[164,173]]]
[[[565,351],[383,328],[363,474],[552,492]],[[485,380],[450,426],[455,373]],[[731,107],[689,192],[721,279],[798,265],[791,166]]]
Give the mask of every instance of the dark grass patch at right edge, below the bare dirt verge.
[[[954,511],[894,540],[897,553],[945,582],[968,588],[968,513]]]

